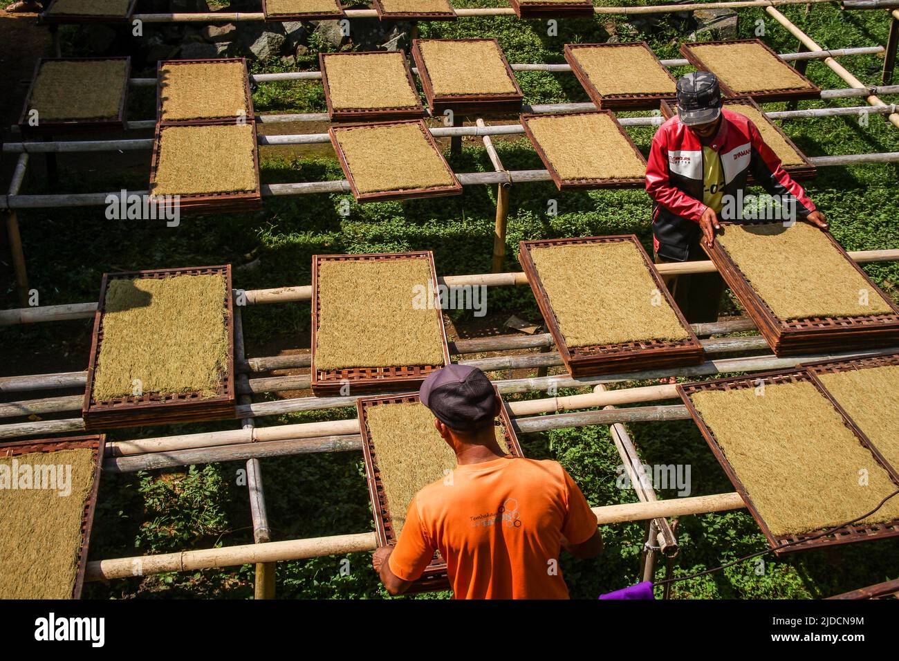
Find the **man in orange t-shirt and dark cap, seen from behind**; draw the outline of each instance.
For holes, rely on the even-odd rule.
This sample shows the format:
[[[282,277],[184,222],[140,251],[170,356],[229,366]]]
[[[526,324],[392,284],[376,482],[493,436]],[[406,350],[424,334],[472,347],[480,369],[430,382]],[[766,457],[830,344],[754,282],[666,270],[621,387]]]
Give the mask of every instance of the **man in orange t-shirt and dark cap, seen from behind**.
[[[556,461],[503,452],[494,436],[501,402],[484,372],[449,365],[420,396],[457,466],[415,495],[396,547],[375,552],[387,592],[403,594],[440,550],[456,599],[567,599],[561,549],[575,558],[602,550],[574,480]]]

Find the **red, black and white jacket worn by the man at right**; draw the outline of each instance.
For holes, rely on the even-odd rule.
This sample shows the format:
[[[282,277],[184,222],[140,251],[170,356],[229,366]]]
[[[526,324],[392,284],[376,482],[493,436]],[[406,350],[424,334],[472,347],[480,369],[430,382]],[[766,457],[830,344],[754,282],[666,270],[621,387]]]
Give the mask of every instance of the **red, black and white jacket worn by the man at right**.
[[[722,110],[721,114],[721,127],[706,147],[721,156],[725,195],[744,190],[752,174],[772,197],[793,196],[798,219],[806,219],[815,210],[814,203],[780,166],[752,121],[738,112]],[[646,165],[646,192],[653,199],[653,242],[655,252],[664,259],[684,262],[690,259],[690,248],[699,244],[699,218],[706,210],[702,175],[702,144],[675,115],[656,131]]]

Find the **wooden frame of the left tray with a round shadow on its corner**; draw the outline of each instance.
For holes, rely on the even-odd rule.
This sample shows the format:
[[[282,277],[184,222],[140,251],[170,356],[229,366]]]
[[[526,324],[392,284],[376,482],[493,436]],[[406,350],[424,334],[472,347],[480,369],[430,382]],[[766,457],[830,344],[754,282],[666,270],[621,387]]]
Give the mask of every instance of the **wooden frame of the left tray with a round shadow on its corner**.
[[[199,391],[159,395],[144,393],[139,397],[116,397],[97,402],[93,398],[93,376],[102,347],[102,317],[106,302],[106,290],[111,280],[163,279],[174,275],[223,275],[226,295],[222,301],[227,313],[227,373],[222,376],[216,397],[201,397]],[[235,416],[235,368],[234,368],[234,307],[231,295],[231,264],[222,266],[200,266],[193,268],[153,269],[103,273],[100,285],[100,302],[93,315],[93,335],[91,338],[91,359],[87,366],[87,387],[81,415],[85,427],[111,429],[135,427],[145,424],[175,422],[197,422],[200,420],[220,420]]]

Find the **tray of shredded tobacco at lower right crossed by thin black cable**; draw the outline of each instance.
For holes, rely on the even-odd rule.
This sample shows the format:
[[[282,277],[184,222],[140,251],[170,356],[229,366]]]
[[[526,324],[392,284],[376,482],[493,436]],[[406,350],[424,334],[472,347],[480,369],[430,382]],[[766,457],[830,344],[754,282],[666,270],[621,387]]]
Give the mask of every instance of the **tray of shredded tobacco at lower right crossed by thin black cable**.
[[[868,518],[834,530],[899,489],[899,473],[808,371],[677,389],[776,552],[899,535],[899,496]],[[861,470],[867,482],[859,479]]]

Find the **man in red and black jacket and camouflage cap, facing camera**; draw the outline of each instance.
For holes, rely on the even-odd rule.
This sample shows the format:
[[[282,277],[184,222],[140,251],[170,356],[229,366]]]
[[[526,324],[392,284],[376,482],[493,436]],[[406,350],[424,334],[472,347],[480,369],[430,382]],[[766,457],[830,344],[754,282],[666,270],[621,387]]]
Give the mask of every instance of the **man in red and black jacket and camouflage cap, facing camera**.
[[[743,218],[750,174],[779,201],[778,219],[827,227],[823,213],[780,166],[752,121],[721,107],[714,74],[683,76],[677,102],[678,114],[656,131],[646,165],[657,263],[708,259],[699,242],[712,242],[719,220]],[[694,273],[665,281],[688,321],[717,320],[724,291],[720,275]]]

